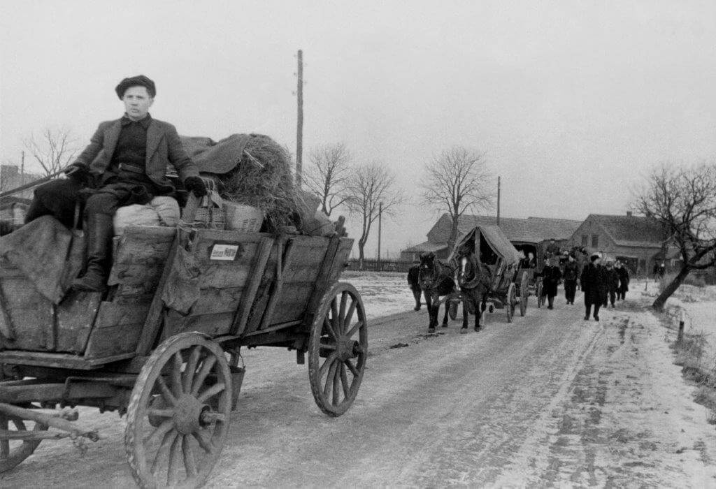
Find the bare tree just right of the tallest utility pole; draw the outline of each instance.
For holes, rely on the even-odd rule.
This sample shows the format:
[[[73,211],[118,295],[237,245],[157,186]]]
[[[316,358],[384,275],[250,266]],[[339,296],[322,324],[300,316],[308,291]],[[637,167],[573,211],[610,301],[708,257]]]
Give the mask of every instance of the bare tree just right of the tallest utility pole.
[[[321,198],[327,216],[348,199],[346,192],[352,173],[351,155],[345,144],[325,144],[309,153],[311,165],[304,169],[306,187]]]

